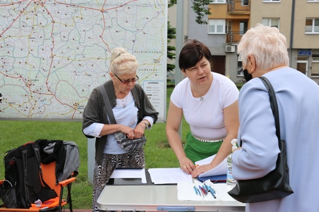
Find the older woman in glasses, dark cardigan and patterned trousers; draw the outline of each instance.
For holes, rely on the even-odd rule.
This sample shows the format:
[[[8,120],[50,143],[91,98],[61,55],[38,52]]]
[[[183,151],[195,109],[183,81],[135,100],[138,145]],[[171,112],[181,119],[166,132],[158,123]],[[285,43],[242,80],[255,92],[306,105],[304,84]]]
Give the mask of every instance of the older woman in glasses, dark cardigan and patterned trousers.
[[[129,139],[138,139],[158,119],[138,80],[138,63],[135,56],[124,48],[115,48],[110,58],[111,80],[104,84],[116,124],[111,124],[99,88],[95,88],[83,111],[82,130],[86,137],[96,138],[93,175],[93,212],[103,188],[116,167],[145,167],[144,148],[128,152],[121,148],[115,132]]]

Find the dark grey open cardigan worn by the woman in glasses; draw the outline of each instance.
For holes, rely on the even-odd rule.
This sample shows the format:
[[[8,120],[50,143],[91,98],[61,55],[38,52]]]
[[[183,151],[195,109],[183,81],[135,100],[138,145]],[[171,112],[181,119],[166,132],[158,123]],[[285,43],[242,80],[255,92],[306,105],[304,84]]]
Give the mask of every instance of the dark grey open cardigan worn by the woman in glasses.
[[[114,108],[116,106],[116,95],[112,80],[104,83],[104,87],[111,103],[111,107]],[[135,102],[135,107],[138,108],[137,122],[140,122],[143,117],[149,116],[152,117],[154,119],[154,123],[156,123],[159,113],[154,109],[142,87],[138,84],[135,84],[132,89],[132,94]],[[107,121],[107,112],[103,97],[98,87],[94,88],[92,93],[90,94],[82,117],[82,130],[93,123],[109,124],[109,122]],[[85,136],[87,138],[94,138],[88,135]],[[95,161],[97,164],[101,164],[106,139],[107,135],[95,139]]]

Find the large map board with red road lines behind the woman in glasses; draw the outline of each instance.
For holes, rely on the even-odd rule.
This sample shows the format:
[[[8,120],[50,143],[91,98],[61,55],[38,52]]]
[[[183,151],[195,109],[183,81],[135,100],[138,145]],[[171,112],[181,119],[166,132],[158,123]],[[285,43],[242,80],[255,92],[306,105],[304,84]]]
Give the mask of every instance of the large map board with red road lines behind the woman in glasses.
[[[0,118],[82,119],[115,47],[165,120],[167,0],[0,0]]]

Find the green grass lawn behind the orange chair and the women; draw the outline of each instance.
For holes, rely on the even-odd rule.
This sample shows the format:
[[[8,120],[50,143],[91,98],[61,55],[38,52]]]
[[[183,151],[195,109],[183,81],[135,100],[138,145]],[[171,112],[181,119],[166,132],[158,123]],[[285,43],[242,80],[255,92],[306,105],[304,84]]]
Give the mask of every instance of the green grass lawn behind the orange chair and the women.
[[[167,89],[167,108],[173,89]],[[169,147],[165,134],[165,123],[156,123],[145,132],[146,168],[179,167],[173,150]],[[0,120],[0,159],[8,150],[28,141],[38,139],[74,141],[80,150],[80,168],[77,180],[72,184],[74,209],[91,209],[92,185],[87,178],[87,138],[82,134],[81,121],[16,121]],[[186,141],[189,125],[183,118],[182,141]],[[94,156],[92,156],[94,157]],[[0,165],[0,179],[4,178],[4,165]]]

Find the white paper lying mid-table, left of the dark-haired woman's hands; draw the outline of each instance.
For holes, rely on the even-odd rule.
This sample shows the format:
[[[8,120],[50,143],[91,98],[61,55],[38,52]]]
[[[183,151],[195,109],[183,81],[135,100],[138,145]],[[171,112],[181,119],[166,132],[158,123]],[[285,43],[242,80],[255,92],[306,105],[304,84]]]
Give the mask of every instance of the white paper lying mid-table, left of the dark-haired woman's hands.
[[[177,184],[181,181],[192,183],[191,175],[181,168],[149,168],[148,172],[154,184]]]

